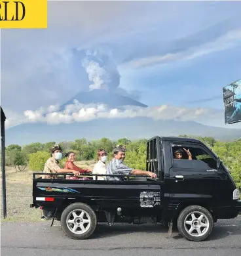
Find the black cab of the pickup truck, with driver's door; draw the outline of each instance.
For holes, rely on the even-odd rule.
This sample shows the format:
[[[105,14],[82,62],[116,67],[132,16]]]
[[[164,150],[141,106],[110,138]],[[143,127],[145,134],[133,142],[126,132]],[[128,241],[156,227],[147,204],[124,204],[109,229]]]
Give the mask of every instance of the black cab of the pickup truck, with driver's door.
[[[175,158],[176,150],[182,150],[183,158]],[[185,150],[191,152],[191,160]],[[163,182],[166,209],[171,207],[173,215],[186,205],[198,204],[210,209],[215,221],[237,216],[238,188],[218,156],[200,140],[152,138],[147,141],[147,169]]]

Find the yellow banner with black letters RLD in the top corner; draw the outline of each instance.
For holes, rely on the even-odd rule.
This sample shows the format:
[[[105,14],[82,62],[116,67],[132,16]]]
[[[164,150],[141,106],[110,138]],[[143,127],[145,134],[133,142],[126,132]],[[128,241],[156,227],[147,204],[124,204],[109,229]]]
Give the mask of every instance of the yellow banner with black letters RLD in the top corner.
[[[0,1],[0,28],[47,28],[47,0]]]

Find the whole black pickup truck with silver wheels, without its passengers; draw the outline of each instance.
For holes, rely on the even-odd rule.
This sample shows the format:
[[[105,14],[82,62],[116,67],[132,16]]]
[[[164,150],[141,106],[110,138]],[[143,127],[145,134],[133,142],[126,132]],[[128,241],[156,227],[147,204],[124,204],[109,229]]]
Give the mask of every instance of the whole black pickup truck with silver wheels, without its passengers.
[[[97,223],[107,222],[168,223],[170,233],[176,224],[187,240],[202,241],[217,219],[241,211],[229,171],[200,140],[153,137],[146,151],[146,171],[156,173],[155,180],[143,175],[127,175],[124,181],[98,180],[98,175],[88,181],[38,179],[43,173],[33,173],[31,207],[54,207],[54,218],[74,239],[90,237]]]

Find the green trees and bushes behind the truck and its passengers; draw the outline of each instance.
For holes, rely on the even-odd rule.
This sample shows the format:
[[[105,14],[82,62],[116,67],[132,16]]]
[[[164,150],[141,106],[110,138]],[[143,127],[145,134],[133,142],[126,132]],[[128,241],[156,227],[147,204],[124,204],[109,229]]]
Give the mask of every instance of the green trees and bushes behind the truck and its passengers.
[[[188,135],[179,135],[179,137],[192,137]],[[231,172],[238,188],[241,187],[241,139],[231,142],[221,142],[212,137],[196,137],[206,143],[219,156],[221,161]],[[107,138],[100,140],[92,140],[88,142],[86,139],[76,139],[71,142],[60,142],[64,153],[73,151],[76,153],[77,161],[96,160],[98,148],[105,148],[109,153],[109,159],[112,158],[112,150],[116,144],[124,144],[126,146],[126,165],[136,169],[145,169],[146,154],[145,139],[131,141],[126,138],[117,141],[111,141]],[[24,167],[28,163],[29,169],[32,171],[43,171],[45,161],[50,157],[50,148],[55,142],[47,142],[42,144],[35,142],[26,146],[12,144],[6,148],[6,165],[14,165],[19,171],[24,171]],[[61,167],[64,166],[65,159],[60,161]]]

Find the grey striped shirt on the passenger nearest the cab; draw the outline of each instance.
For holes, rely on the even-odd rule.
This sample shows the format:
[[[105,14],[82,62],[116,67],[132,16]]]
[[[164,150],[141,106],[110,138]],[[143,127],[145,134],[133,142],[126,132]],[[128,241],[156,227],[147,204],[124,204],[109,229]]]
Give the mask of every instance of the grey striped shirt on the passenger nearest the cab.
[[[124,165],[122,160],[115,159],[111,160],[107,165],[107,175],[130,175],[133,169]],[[105,180],[107,181],[124,181],[124,177],[110,177],[105,176]]]

